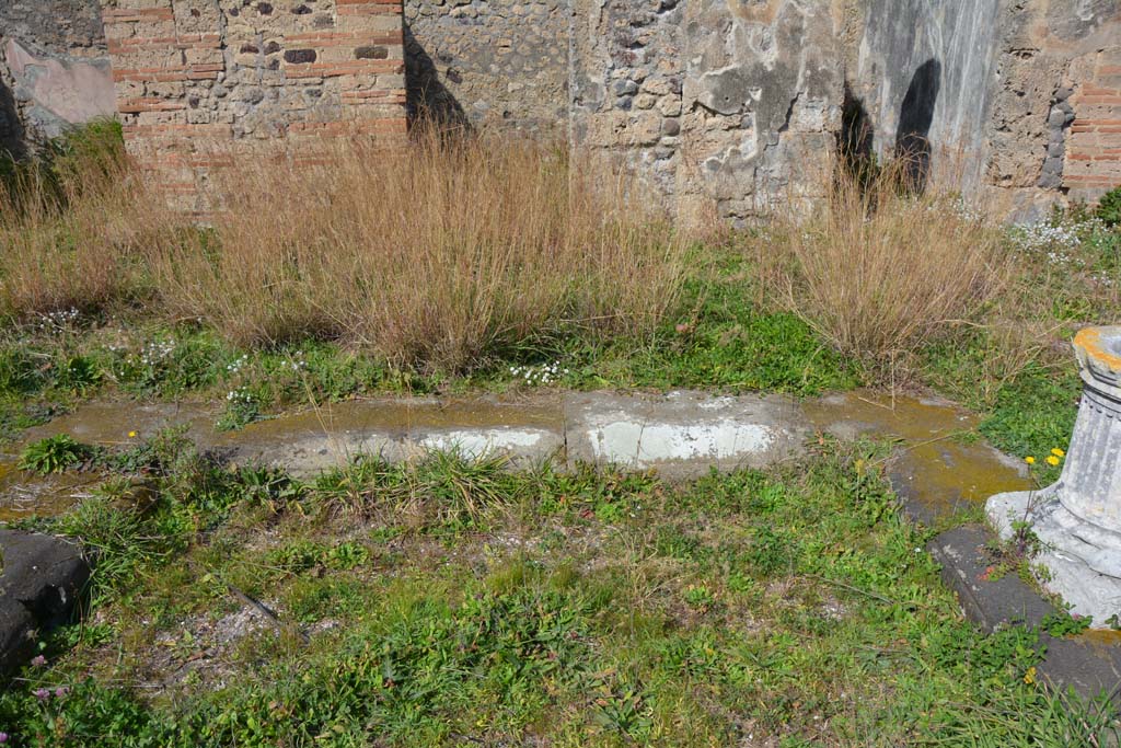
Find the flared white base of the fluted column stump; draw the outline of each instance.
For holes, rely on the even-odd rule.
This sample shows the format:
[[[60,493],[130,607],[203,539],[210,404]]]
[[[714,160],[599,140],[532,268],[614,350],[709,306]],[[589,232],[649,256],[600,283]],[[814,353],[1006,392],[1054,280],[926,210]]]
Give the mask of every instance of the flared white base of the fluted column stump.
[[[1087,616],[1093,628],[1109,628],[1121,618],[1121,537],[1076,517],[1058,499],[1055,486],[1039,491],[998,493],[985,505],[989,520],[1004,541],[1013,523],[1027,521],[1041,550],[1031,560],[1046,570],[1040,583]]]

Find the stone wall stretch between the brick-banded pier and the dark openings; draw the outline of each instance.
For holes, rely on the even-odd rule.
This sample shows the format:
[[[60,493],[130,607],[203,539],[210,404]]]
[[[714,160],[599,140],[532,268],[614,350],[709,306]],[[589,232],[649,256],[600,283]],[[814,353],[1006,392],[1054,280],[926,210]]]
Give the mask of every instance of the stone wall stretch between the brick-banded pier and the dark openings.
[[[567,132],[684,213],[740,219],[833,150],[833,7],[768,0],[409,0],[410,96],[443,118]],[[793,178],[791,178],[793,177]]]

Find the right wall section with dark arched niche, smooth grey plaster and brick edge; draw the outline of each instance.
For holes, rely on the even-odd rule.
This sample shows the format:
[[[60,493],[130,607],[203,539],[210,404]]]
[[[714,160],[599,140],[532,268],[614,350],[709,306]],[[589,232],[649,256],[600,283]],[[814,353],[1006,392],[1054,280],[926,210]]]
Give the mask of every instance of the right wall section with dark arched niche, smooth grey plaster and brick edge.
[[[1015,219],[1121,184],[1121,1],[870,0],[847,82],[881,156]]]

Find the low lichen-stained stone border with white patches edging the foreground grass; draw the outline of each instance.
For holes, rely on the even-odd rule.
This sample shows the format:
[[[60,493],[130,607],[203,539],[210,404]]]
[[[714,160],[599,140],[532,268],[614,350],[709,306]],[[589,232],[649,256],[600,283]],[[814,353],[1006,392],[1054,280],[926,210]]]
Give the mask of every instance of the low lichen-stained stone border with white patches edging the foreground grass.
[[[95,418],[64,417],[33,430],[29,438],[64,432],[82,441],[121,443],[131,430],[148,434],[179,422],[188,424],[189,435],[207,451],[237,462],[275,464],[297,474],[342,464],[358,452],[400,460],[432,447],[458,447],[466,454],[503,453],[515,463],[559,455],[568,462],[585,460],[657,468],[671,479],[684,479],[703,474],[712,465],[729,470],[786,460],[799,453],[803,440],[815,428],[844,438],[883,431],[876,421],[881,415],[880,406],[862,399],[870,408],[846,413],[845,400],[839,397],[839,401],[822,400],[831,408],[821,404],[810,408],[806,403],[778,396],[719,397],[686,390],[665,395],[565,393],[512,400],[495,397],[464,401],[367,400],[259,422],[229,434],[214,434],[215,414],[204,409],[173,406],[121,409],[108,404],[95,406],[101,408]],[[915,426],[908,419],[929,417],[927,412],[933,407],[936,406],[926,401],[912,404],[909,410],[887,422],[888,427],[899,427],[902,422]],[[991,465],[992,470],[1008,473],[1001,477],[1006,483],[1017,480],[1015,470],[1002,464],[1001,455],[991,447],[939,441],[958,422],[957,416],[941,418],[929,424],[929,434],[912,428],[909,438],[938,442],[937,453],[924,455],[919,465],[911,452],[909,459],[900,459],[889,471],[892,488],[910,521],[932,526],[946,511],[970,500],[964,495],[965,487],[955,493],[958,489],[953,484],[955,471],[960,472],[957,469],[963,464],[974,472],[984,472]],[[942,472],[932,473],[927,470],[930,468]],[[986,488],[989,491],[982,498],[994,490]],[[1015,483],[1008,483],[1007,488],[995,490],[1015,488]],[[971,498],[975,501],[979,497]],[[928,551],[942,564],[943,579],[957,594],[965,613],[979,625],[988,630],[1013,622],[1038,627],[1054,611],[1048,602],[1015,576],[995,581],[985,578],[989,563],[983,547],[990,537],[980,525],[957,527],[932,541]],[[71,552],[76,554],[73,548]],[[58,589],[73,592],[77,588]],[[0,643],[11,637],[8,631],[26,634],[33,627],[21,610],[26,608],[8,603],[0,608]],[[1103,689],[1113,691],[1121,683],[1121,646],[1109,637],[1101,638],[1101,644],[1094,644],[1091,637],[1055,639],[1046,634],[1043,637],[1048,655],[1039,672],[1051,682],[1069,684],[1086,695],[1096,695]]]

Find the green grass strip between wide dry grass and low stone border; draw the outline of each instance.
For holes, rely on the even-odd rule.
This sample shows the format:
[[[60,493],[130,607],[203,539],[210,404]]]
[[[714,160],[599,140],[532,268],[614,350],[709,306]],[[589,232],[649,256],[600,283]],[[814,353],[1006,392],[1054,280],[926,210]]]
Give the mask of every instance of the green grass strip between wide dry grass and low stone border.
[[[652,336],[604,339],[578,327],[506,350],[473,373],[393,369],[331,341],[239,350],[217,331],[168,325],[133,312],[123,317],[59,313],[0,336],[0,438],[93,397],[221,400],[219,430],[240,428],[293,406],[378,394],[463,394],[541,386],[696,387],[815,395],[849,389],[860,373],[805,323],[765,313],[742,260],[698,250],[678,312]],[[680,327],[679,327],[680,326]],[[556,364],[544,384],[513,367]]]

